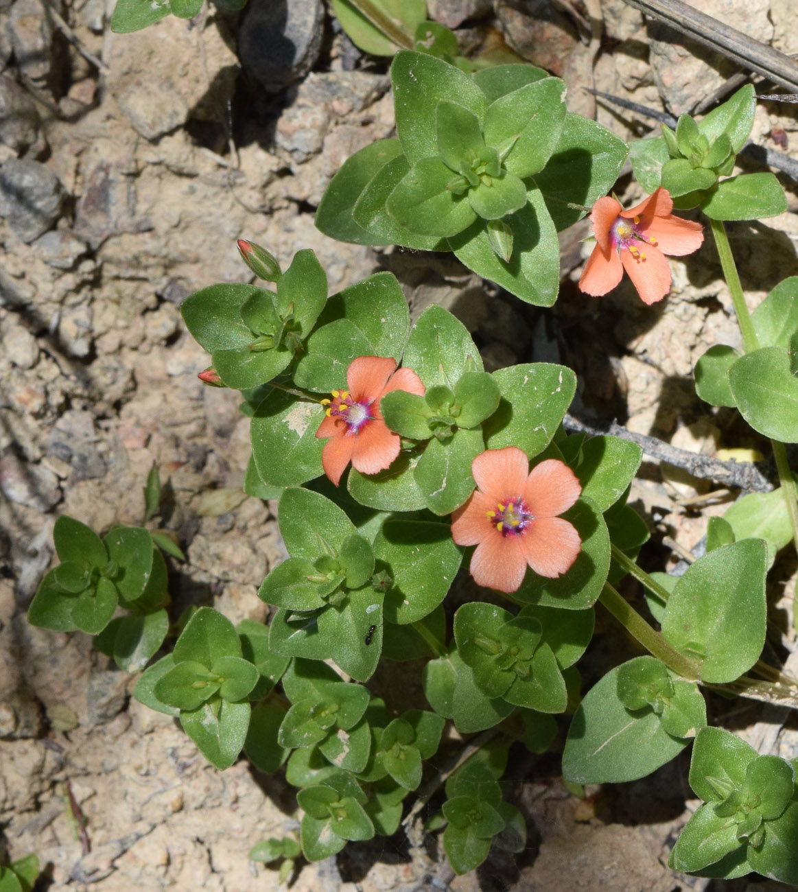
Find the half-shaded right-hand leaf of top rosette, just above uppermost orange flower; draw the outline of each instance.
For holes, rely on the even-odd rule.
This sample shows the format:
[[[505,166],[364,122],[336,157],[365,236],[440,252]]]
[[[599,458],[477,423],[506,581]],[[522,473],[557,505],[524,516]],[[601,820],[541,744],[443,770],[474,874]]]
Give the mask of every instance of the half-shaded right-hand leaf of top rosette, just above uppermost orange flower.
[[[572,112],[565,115],[555,151],[534,178],[557,231],[584,217],[587,211],[580,207],[591,207],[610,191],[628,151],[626,143],[595,120]]]

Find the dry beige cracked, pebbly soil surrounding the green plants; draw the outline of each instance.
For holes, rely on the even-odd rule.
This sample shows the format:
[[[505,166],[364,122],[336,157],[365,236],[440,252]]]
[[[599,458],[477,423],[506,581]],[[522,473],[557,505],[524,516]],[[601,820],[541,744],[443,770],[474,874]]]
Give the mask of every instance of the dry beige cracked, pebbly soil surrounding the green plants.
[[[798,53],[793,0],[695,5]],[[274,32],[278,7],[290,39]],[[622,0],[601,3],[600,46],[589,42],[579,2],[429,8],[466,51],[505,41],[565,78],[572,110],[623,138],[650,122],[611,111],[584,87],[679,114],[735,70]],[[586,229],[576,227],[562,244],[561,300],[540,311],[446,257],[319,234],[313,214],[335,170],[393,128],[385,62],[360,54],[320,0],[250,0],[235,14],[210,6],[196,20],[169,17],[133,35],[112,34],[109,13],[103,0],[0,0],[0,856],[36,852],[47,865],[40,889],[255,892],[278,881],[248,861],[250,847],[296,826],[284,780],[245,761],[217,772],[176,723],[130,697],[131,679],[87,636],[25,618],[53,558],[54,518],[67,513],[100,531],[140,524],[153,464],[173,490],[163,522],[187,556],[172,566],[176,607],[212,604],[234,622],[265,616],[257,587],[284,558],[275,507],[243,494],[248,421],[234,392],[198,380],[208,359],[182,324],[185,296],[249,280],[237,237],[266,245],[284,266],[312,248],[331,293],[391,269],[414,311],[436,301],[465,321],[488,368],[563,361],[580,376],[576,415],[618,417],[705,454],[747,445],[696,400],[690,379],[695,359],[713,343],[735,343],[736,331],[706,248],[672,264],[669,299],[646,310],[625,286],[601,301],[576,291],[587,250]],[[794,106],[760,105],[753,139],[798,157]],[[753,303],[798,272],[798,202],[784,182],[786,214],[732,229]],[[628,175],[618,188],[638,197]],[[722,508],[695,508],[709,488],[652,462],[632,498],[655,539],[670,535],[689,550],[707,514]],[[785,620],[785,634],[790,627]],[[599,625],[599,654],[610,647],[605,631]],[[785,714],[745,706],[737,725],[761,752],[794,755]],[[67,784],[90,851],[70,822]],[[529,822],[529,849],[514,862],[491,856],[478,873],[453,878],[434,840],[399,834],[300,865],[292,888],[777,888],[710,886],[667,868],[695,808],[683,762],[582,801],[559,780],[556,755],[519,755],[506,786]]]

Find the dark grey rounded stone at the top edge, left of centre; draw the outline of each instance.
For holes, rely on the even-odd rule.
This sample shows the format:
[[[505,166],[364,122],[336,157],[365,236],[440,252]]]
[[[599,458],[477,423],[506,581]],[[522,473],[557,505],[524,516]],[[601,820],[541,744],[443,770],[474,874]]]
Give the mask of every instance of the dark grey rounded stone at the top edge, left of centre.
[[[316,62],[323,22],[321,0],[250,0],[238,32],[243,67],[279,92]]]

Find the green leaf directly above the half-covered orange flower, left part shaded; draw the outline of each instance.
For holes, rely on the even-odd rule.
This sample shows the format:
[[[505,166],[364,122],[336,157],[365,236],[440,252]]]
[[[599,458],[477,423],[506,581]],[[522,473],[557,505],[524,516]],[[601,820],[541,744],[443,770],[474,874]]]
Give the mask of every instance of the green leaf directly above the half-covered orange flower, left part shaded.
[[[392,273],[375,273],[333,294],[325,304],[318,325],[338,318],[346,318],[358,326],[371,345],[370,355],[391,356],[397,362],[402,358],[410,330],[410,313]]]

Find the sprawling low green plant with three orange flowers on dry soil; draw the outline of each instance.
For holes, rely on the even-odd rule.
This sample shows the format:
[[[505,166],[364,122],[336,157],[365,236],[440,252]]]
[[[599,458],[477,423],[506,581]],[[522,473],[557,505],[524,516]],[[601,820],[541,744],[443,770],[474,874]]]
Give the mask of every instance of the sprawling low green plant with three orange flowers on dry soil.
[[[163,534],[117,526],[101,539],[69,517],[55,524],[61,563],[31,622],[95,635],[128,671],[149,664],[136,698],[176,716],[218,768],[242,750],[264,771],[284,767],[310,861],[398,830],[407,797],[443,756],[454,759],[436,775],[443,795],[427,790],[420,803],[434,804],[427,827],[442,830],[454,870],[473,870],[493,844],[522,850],[522,815],[499,783],[509,747],[546,751],[555,716],[572,714],[563,752],[572,784],[636,780],[694,744],[689,780],[704,804],[673,849],[675,869],[758,871],[798,885],[795,766],[708,726],[703,695],[794,706],[798,687],[761,661],[769,567],[798,542],[784,446],[798,442],[798,277],[750,315],[723,222],[786,207],[772,175],[728,177],[753,124],[753,88],[633,145],[652,194],[623,211],[605,193],[627,147],[566,111],[557,78],[525,65],[466,73],[416,50],[396,55],[391,78],[399,138],[344,164],[319,227],[361,244],[453,251],[547,306],[559,281],[556,232],[591,204],[596,248],[582,289],[606,293],[625,269],[651,303],[670,288],[664,255],[703,239],[703,224],[674,205],[699,207],[744,349],[708,351],[696,391],[771,439],[778,491],[713,518],[706,554],[679,578],[648,574],[635,559],[646,525],[626,504],[642,452],[620,437],[566,432],[570,368],[486,372],[448,310],[432,305],[411,324],[390,273],[328,297],[313,252],[282,271],[242,241],[251,272],[275,287],[212,285],[182,313],[210,354],[202,380],[241,391],[251,417],[245,491],[279,500],[288,558],[259,589],[269,623],[234,626],[201,607],[170,624]],[[454,609],[461,568],[474,585]],[[654,624],[619,594],[627,576],[645,587]],[[577,664],[596,603],[647,654],[583,695]],[[169,652],[150,663],[169,634]],[[383,660],[424,660],[425,702],[399,709],[391,686],[374,681]],[[251,857],[284,857],[284,879],[298,854],[290,839],[269,840]]]

